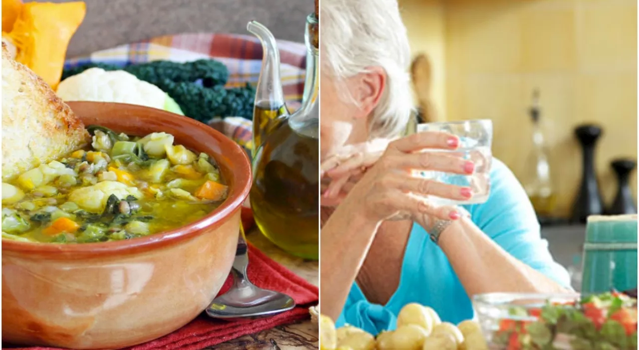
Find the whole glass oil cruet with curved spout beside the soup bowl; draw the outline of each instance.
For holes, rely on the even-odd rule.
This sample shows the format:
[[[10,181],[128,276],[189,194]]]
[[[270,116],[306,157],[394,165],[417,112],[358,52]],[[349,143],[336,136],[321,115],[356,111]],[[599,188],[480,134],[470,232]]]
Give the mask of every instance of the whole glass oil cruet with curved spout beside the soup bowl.
[[[253,216],[261,232],[278,247],[305,259],[318,259],[318,19],[313,13],[306,20],[304,97],[293,114],[284,103],[273,34],[255,21],[247,28],[264,50],[253,119]]]

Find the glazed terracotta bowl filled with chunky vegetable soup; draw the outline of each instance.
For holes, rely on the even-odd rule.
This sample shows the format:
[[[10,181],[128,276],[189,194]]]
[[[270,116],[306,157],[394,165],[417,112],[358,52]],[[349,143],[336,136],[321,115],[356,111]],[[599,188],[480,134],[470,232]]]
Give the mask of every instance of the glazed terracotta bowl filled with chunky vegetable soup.
[[[3,182],[3,342],[113,349],[197,317],[233,264],[250,164],[209,126],[70,102],[86,147]]]

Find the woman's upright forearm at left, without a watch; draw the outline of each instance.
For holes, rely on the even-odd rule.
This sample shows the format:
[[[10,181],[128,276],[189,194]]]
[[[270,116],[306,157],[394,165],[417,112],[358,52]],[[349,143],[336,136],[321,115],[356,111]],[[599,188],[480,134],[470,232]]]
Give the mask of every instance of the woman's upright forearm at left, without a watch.
[[[336,320],[371,247],[378,223],[337,208],[321,229],[321,313]]]

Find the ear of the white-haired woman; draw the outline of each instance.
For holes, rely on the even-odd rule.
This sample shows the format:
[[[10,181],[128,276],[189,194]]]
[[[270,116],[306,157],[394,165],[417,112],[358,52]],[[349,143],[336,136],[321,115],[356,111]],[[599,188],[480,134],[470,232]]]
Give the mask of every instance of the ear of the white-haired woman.
[[[386,88],[386,72],[381,67],[369,67],[365,73],[356,75],[353,97],[357,101],[362,116],[368,116],[380,103],[381,94]]]

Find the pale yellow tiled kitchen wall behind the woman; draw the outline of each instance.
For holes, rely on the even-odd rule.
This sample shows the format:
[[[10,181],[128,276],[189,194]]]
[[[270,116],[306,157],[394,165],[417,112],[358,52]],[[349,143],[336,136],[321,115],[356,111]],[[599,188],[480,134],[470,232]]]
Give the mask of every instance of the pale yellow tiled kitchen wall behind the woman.
[[[580,181],[573,129],[584,122],[604,128],[597,173],[606,204],[612,201],[617,184],[610,160],[637,155],[636,0],[400,4],[413,50],[433,52],[436,74],[445,77],[435,84],[445,118],[493,119],[493,152],[523,179],[532,145],[527,109],[539,88],[558,213],[569,211]],[[636,175],[631,181],[636,195]]]

